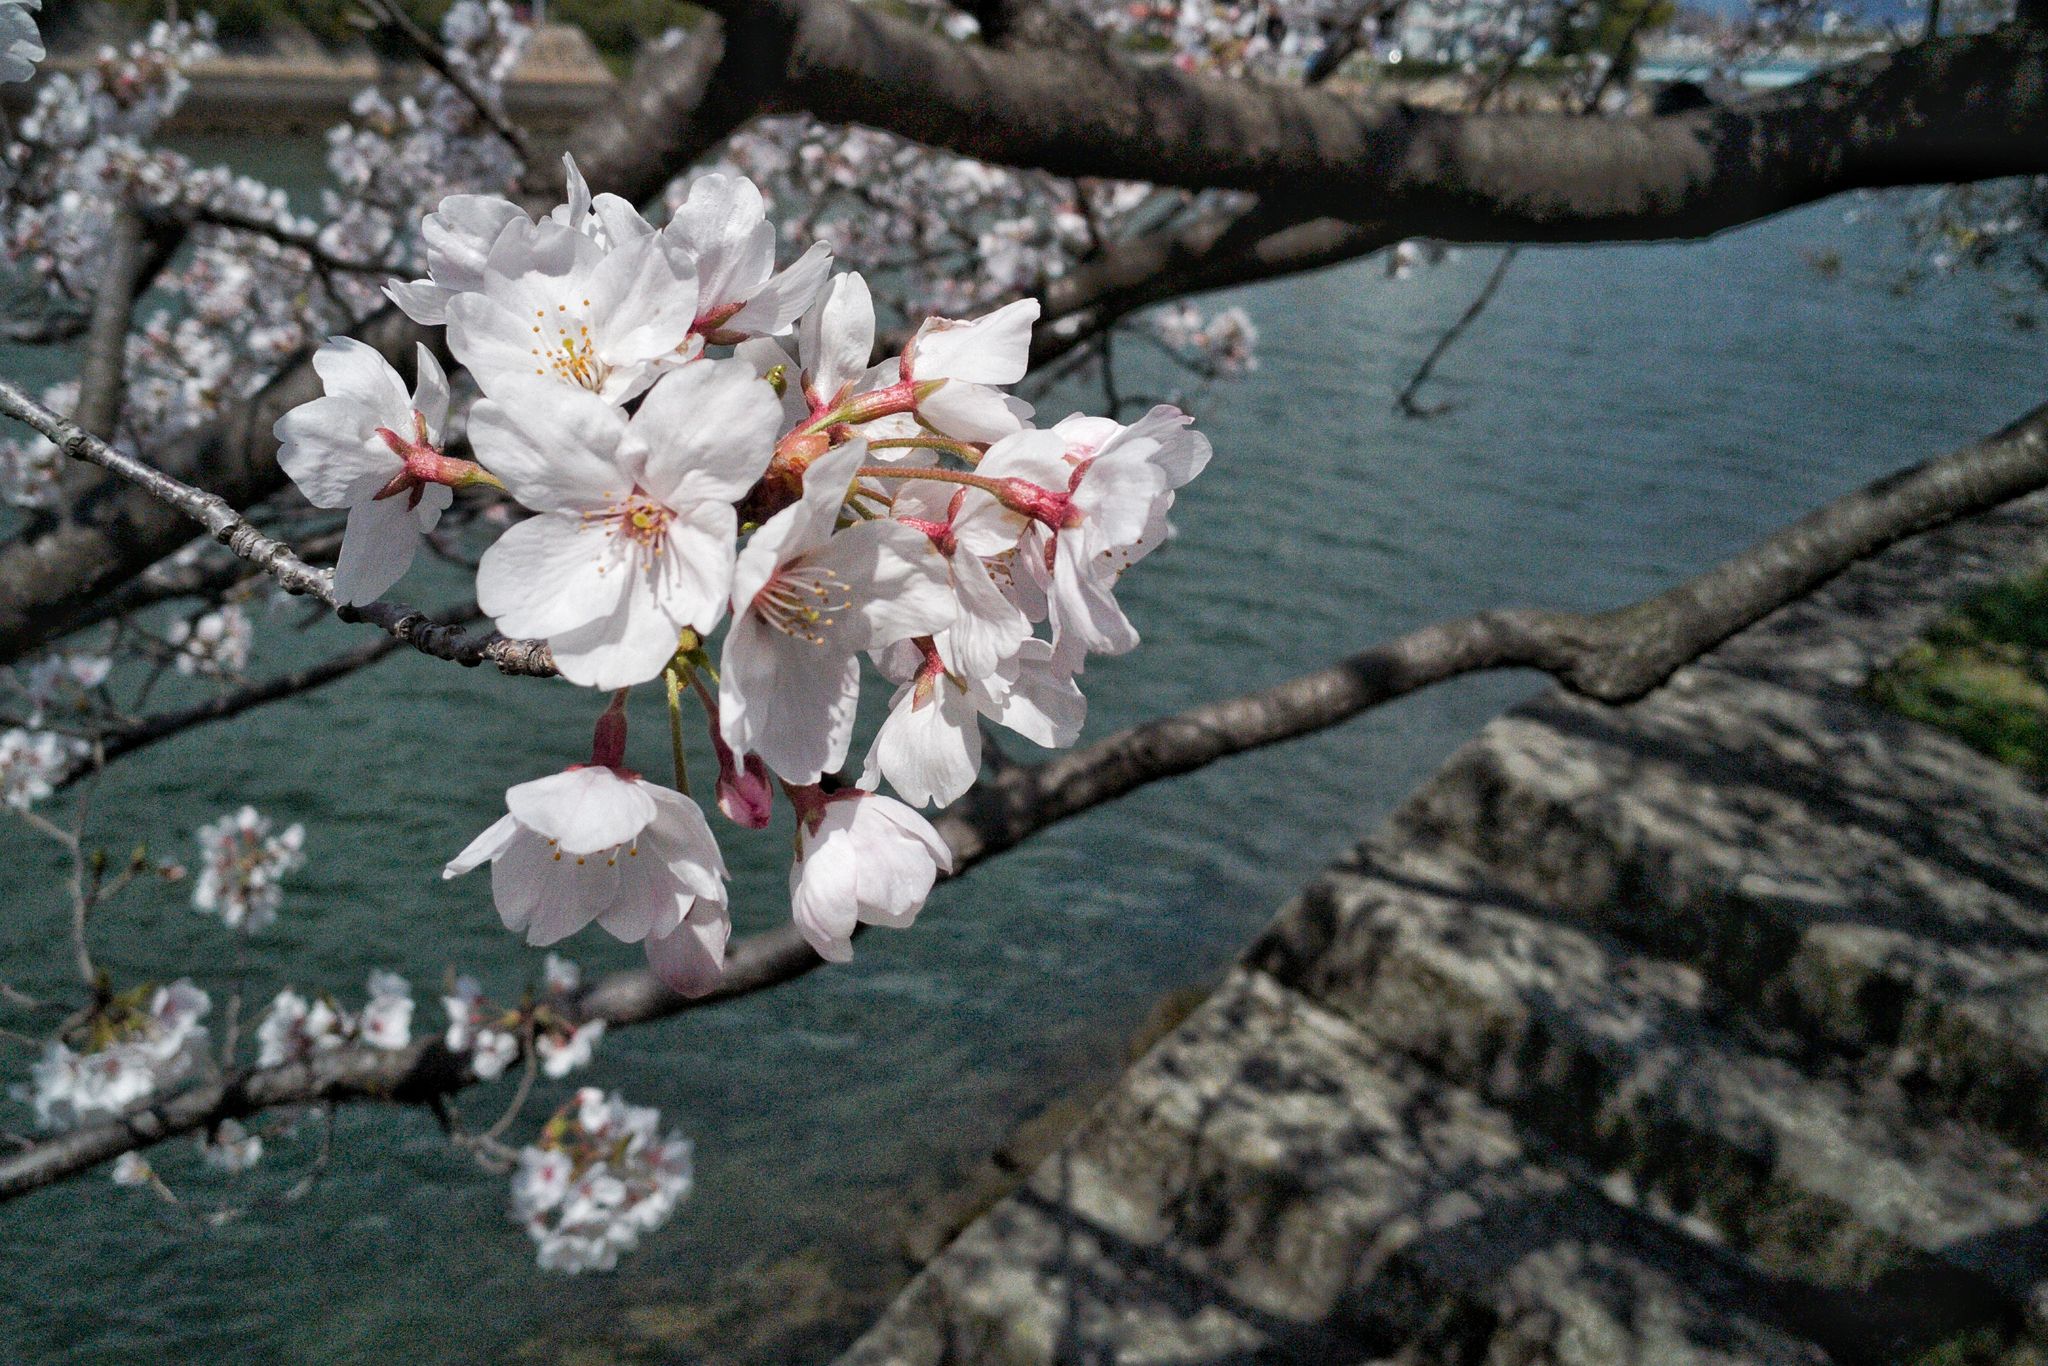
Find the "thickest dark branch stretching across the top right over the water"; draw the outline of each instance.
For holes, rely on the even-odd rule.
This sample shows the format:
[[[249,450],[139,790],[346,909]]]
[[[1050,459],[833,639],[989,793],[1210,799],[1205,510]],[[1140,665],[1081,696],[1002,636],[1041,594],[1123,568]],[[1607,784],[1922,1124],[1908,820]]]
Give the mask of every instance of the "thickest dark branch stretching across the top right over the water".
[[[952,43],[846,0],[711,8],[776,25],[778,106],[1061,176],[1253,190],[1395,236],[1692,238],[1847,188],[2048,170],[2048,41],[2025,25],[1726,109],[1581,121],[1366,106],[1108,55],[1085,70],[1085,55]]]

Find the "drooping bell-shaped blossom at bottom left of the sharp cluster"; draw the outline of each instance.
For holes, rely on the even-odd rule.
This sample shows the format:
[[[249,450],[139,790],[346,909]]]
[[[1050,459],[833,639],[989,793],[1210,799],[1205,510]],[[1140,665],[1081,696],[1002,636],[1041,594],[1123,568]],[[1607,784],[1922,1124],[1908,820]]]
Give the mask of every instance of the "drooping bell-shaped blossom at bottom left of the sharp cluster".
[[[569,768],[506,793],[506,815],[442,877],[492,864],[508,930],[553,944],[590,922],[627,944],[678,991],[707,991],[731,920],[725,858],[705,813],[682,793],[606,766]]]

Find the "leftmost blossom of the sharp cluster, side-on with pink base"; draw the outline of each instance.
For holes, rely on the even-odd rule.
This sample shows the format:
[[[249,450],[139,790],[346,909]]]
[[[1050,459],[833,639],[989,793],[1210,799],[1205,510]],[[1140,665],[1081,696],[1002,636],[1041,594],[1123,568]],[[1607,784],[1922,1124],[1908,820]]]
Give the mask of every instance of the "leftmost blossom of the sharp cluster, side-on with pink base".
[[[326,397],[276,420],[276,463],[315,508],[348,508],[334,596],[360,606],[403,578],[420,537],[455,500],[453,487],[432,479],[449,465],[440,455],[449,377],[422,344],[418,381],[406,393],[377,350],[346,336],[313,352],[313,371]]]

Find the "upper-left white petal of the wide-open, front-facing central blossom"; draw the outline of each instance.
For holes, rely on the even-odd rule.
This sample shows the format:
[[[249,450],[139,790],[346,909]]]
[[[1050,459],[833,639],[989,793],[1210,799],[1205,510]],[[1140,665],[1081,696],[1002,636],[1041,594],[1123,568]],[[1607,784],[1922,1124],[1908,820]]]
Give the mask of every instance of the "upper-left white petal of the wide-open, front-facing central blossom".
[[[535,512],[604,508],[633,492],[627,418],[594,393],[524,385],[469,410],[477,461]],[[637,461],[635,461],[637,463]]]

